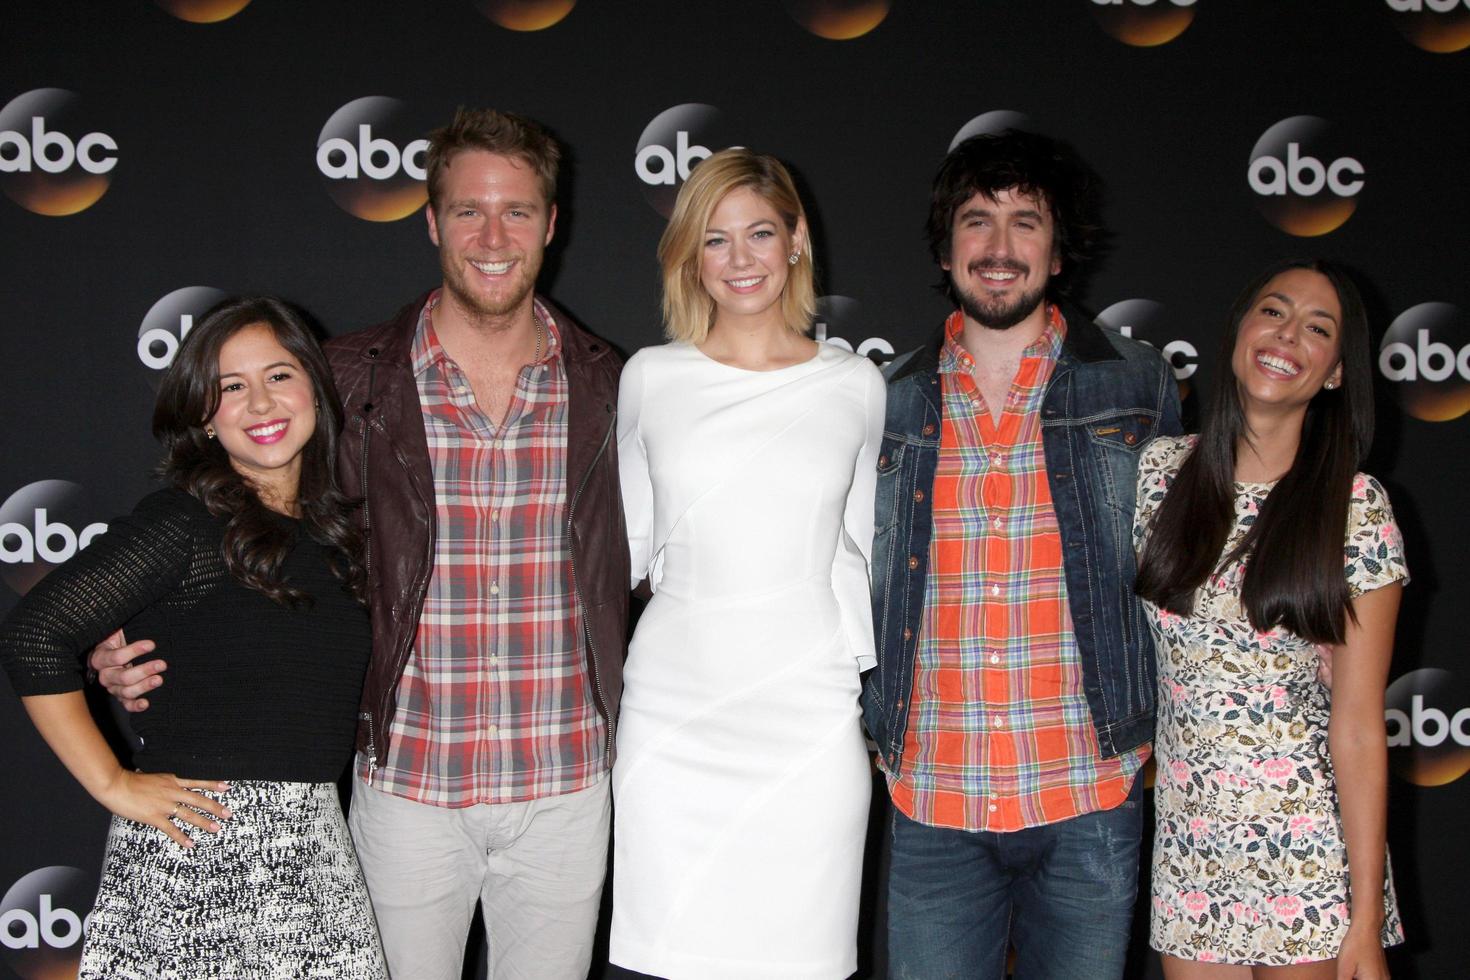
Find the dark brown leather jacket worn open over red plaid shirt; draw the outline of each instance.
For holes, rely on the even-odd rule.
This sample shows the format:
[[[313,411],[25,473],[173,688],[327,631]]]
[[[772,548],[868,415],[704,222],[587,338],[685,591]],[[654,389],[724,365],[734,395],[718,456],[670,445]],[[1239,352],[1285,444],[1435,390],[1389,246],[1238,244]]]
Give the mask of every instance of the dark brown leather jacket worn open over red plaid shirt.
[[[617,376],[622,360],[544,297],[562,328],[567,411],[567,526],[572,585],[585,630],[597,710],[612,761],[628,638],[628,530],[617,485]],[[357,749],[369,771],[388,755],[388,723],[413,651],[434,570],[434,476],[409,348],[428,294],[388,322],[338,336],[326,354],[345,426],[338,480],[360,495],[372,589],[372,660],[357,714]]]

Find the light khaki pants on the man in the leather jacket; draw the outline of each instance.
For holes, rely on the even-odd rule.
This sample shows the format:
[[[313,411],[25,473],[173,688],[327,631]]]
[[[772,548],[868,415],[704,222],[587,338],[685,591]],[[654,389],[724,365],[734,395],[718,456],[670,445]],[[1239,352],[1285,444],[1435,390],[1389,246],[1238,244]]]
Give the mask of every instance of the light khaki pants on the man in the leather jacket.
[[[491,980],[584,980],[607,867],[609,780],[451,810],[356,779],[348,826],[394,980],[459,980],[475,902]]]

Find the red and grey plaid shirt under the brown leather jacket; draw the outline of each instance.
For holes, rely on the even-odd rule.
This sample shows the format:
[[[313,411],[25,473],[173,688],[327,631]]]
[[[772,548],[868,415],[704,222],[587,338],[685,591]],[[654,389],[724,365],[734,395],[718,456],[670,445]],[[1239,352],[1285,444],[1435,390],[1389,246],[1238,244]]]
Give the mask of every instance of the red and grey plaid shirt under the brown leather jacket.
[[[434,573],[373,785],[437,807],[575,792],[607,758],[566,554],[557,325],[538,303],[545,356],[520,370],[497,426],[440,347],[437,303],[412,348],[434,469]]]

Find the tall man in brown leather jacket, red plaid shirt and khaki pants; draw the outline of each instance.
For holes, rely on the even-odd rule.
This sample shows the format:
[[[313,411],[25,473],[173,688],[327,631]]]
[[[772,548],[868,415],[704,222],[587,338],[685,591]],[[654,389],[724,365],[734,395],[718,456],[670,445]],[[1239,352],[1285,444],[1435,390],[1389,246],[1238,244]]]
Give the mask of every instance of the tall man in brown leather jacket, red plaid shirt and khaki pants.
[[[535,294],[559,157],[529,119],[456,113],[426,160],[442,285],[328,344],[373,627],[350,826],[398,980],[460,976],[476,901],[491,977],[591,961],[628,624],[622,364]],[[135,652],[94,654],[122,698],[162,682],[121,667]]]

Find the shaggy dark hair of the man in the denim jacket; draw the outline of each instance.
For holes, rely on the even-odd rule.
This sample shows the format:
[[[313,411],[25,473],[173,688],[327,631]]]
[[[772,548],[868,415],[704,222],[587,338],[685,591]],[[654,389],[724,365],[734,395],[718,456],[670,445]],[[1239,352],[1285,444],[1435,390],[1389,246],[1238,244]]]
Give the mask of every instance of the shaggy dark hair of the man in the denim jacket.
[[[1033,195],[1051,210],[1053,250],[1061,260],[1061,272],[1051,278],[1047,294],[1066,295],[1105,237],[1100,213],[1102,181],[1072,147],[1033,132],[980,134],[944,157],[933,178],[926,226],[933,260],[950,260],[956,212],[976,194],[995,197],[1001,191]],[[948,276],[942,288],[956,298]]]

